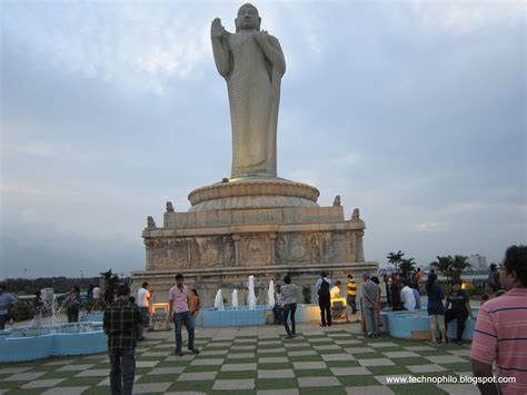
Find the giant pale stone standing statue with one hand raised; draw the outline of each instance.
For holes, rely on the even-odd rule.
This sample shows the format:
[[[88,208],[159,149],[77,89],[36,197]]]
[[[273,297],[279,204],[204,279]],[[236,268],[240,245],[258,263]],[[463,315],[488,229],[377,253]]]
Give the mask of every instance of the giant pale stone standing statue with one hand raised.
[[[232,124],[232,178],[277,176],[277,124],[286,60],[276,37],[260,31],[255,6],[238,10],[236,33],[210,28],[219,73],[227,80]]]

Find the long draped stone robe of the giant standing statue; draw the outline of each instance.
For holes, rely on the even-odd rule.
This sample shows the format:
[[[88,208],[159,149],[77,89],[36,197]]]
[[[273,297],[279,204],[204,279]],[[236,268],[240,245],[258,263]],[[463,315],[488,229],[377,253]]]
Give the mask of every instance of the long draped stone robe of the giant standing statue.
[[[277,176],[277,124],[280,80],[255,34],[230,34],[230,72],[226,77],[232,124],[232,178]],[[278,40],[269,45],[281,53]]]

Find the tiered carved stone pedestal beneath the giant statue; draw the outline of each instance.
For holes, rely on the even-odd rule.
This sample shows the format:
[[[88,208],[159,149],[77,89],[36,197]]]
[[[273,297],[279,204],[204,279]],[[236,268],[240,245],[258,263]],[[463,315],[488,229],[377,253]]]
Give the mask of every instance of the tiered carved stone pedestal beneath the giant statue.
[[[319,207],[317,188],[280,178],[231,179],[190,192],[188,213],[165,213],[163,227],[143,230],[146,270],[133,273],[135,288],[147,280],[156,302],[166,302],[175,276],[196,288],[202,306],[211,306],[218,288],[230,305],[233,288],[247,304],[249,275],[255,275],[259,304],[266,304],[269,280],[290,274],[301,292],[320,271],[346,283],[377,268],[362,254],[365,223],[344,218],[336,203]],[[306,290],[306,293],[309,293]],[[298,295],[304,300],[302,295]]]

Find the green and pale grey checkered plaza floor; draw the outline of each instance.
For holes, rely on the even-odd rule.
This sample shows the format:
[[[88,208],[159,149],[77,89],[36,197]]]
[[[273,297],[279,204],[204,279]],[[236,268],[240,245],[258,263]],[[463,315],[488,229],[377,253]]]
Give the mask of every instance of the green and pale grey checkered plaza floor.
[[[172,333],[150,333],[137,348],[136,393],[479,394],[471,384],[387,385],[386,376],[470,375],[469,345],[431,347],[362,337],[357,324],[198,328],[201,354],[175,355]],[[185,332],[185,330],[183,330]],[[185,350],[185,348],[183,348]],[[106,354],[0,365],[0,394],[108,394]]]

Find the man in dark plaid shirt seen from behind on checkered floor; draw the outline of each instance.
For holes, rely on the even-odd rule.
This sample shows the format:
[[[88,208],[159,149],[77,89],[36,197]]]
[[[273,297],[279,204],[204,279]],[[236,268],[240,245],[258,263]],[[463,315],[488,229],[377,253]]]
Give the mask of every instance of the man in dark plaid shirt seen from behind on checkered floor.
[[[106,309],[102,318],[102,327],[108,336],[112,395],[130,395],[133,389],[137,334],[142,322],[139,307],[129,298],[128,285],[119,285],[117,300]]]

